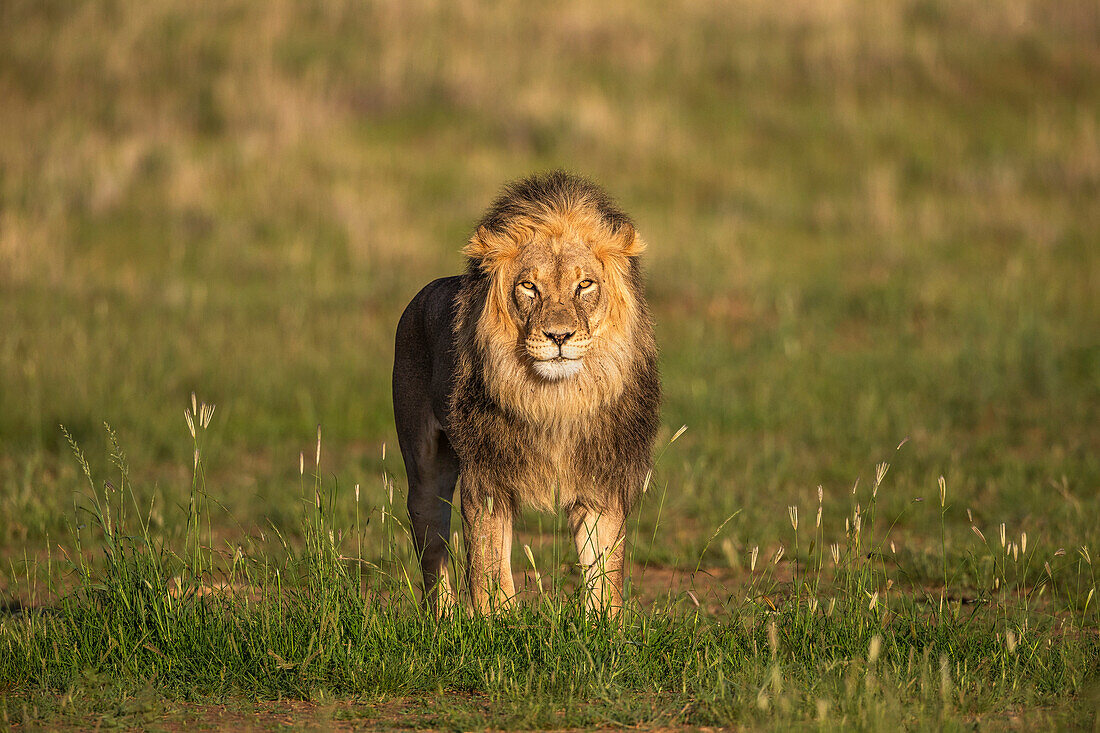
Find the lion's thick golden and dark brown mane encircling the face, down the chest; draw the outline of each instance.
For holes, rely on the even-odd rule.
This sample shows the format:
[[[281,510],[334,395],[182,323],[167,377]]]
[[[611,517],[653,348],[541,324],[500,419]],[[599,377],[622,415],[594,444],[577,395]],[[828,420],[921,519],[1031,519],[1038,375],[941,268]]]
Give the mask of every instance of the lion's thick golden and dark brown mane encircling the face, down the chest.
[[[506,305],[507,264],[522,248],[551,237],[588,244],[604,267],[609,297],[583,372],[560,381],[540,380],[525,368],[519,328]],[[496,474],[499,480],[491,483],[497,486],[509,485],[509,477],[537,474],[530,462],[539,460],[578,477],[574,486],[498,490],[494,500],[549,507],[553,492],[564,491],[595,507],[632,506],[649,470],[660,404],[638,259],[644,249],[632,221],[598,186],[562,172],[506,186],[470,239],[454,326],[454,448],[465,464]],[[586,495],[590,481],[615,490]]]

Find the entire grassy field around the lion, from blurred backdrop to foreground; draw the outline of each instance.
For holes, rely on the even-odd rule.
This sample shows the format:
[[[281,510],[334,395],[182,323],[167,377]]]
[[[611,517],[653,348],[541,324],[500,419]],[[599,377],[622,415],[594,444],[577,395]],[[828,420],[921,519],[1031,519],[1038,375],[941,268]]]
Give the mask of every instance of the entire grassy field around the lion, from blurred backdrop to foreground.
[[[1098,39],[1089,0],[0,4],[0,727],[1096,727]],[[650,243],[634,604],[581,615],[532,514],[524,608],[436,624],[394,328],[551,167]]]

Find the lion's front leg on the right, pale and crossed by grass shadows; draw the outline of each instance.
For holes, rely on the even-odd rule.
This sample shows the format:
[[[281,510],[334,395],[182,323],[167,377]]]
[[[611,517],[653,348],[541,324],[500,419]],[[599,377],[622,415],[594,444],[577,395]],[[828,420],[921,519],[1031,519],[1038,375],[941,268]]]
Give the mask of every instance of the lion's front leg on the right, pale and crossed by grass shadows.
[[[576,505],[569,512],[569,524],[581,561],[585,609],[606,609],[618,615],[623,609],[626,515],[614,508],[597,512]]]

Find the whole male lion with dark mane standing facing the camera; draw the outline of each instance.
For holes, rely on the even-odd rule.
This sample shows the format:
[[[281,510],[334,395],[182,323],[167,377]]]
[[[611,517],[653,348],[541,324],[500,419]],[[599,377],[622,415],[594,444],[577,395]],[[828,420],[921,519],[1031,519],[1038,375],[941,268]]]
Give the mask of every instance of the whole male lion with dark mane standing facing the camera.
[[[462,477],[473,605],[510,603],[521,505],[569,517],[590,609],[623,602],[626,517],[651,466],[660,380],[630,219],[554,172],[504,187],[464,253],[397,326],[394,417],[425,603],[453,601],[451,497]]]

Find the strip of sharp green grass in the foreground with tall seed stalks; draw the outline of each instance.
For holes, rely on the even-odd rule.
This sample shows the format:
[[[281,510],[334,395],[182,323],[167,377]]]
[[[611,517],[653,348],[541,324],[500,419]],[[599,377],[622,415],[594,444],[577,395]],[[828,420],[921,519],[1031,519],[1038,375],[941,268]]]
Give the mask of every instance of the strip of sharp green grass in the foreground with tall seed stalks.
[[[204,422],[191,418],[197,445]],[[1057,570],[1046,565],[1043,576],[1030,573],[1047,561],[1023,538],[1022,555],[1014,537],[1000,547],[982,541],[971,555],[979,577],[965,586],[974,598],[957,598],[953,578],[938,593],[913,584],[904,564],[887,557],[889,530],[876,532],[887,464],[858,494],[867,504],[851,515],[843,544],[826,550],[816,518],[807,526],[789,512],[791,577],[778,577],[781,557],[754,553],[750,579],[717,609],[700,609],[689,593],[646,605],[636,598],[620,621],[585,615],[552,573],[548,589],[559,590],[529,593],[516,610],[492,617],[460,610],[436,621],[417,604],[392,504],[382,546],[364,556],[363,517],[334,524],[338,492],[315,463],[298,492],[300,545],[219,553],[204,541],[211,505],[200,451],[177,551],[151,533],[124,453],[109,438],[117,482],[102,489],[73,446],[88,480],[80,505],[89,517],[64,551],[75,586],[0,627],[0,680],[15,694],[0,698],[8,722],[102,718],[97,697],[85,697],[106,678],[123,701],[136,694],[162,707],[195,697],[377,704],[438,694],[432,714],[458,727],[814,720],[886,729],[996,720],[1005,709],[1004,723],[1094,723],[1091,557],[1055,559]],[[946,512],[946,499],[945,485],[933,510]],[[89,537],[101,566],[86,559]],[[800,540],[809,541],[801,562]],[[453,693],[464,694],[448,700]],[[463,704],[470,693],[488,702],[487,716]],[[28,700],[42,708],[29,712]],[[113,720],[120,711],[136,723],[148,708],[106,712]]]

